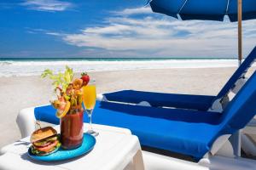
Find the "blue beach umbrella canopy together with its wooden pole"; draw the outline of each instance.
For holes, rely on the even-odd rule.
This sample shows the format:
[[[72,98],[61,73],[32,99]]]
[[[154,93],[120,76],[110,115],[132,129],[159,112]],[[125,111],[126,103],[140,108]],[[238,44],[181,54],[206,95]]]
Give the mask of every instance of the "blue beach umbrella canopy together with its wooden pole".
[[[155,13],[181,20],[238,21],[238,59],[241,64],[241,20],[256,19],[256,0],[149,0]]]

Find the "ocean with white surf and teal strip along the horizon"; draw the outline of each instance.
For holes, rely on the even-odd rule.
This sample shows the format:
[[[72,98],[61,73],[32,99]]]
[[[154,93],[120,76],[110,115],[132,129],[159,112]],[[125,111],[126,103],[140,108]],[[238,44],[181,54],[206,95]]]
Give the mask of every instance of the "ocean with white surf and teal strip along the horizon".
[[[40,75],[45,69],[75,72],[237,66],[237,59],[0,59],[0,77]]]

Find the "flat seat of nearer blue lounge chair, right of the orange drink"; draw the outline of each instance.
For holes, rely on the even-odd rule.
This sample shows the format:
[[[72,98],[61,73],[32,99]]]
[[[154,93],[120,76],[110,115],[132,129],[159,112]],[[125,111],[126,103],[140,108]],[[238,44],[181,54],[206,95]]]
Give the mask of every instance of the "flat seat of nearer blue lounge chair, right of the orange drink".
[[[219,113],[101,102],[93,122],[125,127],[146,146],[201,158],[218,133]]]

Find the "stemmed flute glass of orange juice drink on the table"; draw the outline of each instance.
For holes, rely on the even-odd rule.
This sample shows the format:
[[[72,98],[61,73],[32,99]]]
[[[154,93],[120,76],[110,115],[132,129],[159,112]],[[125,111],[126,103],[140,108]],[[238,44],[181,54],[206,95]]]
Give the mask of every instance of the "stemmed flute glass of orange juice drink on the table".
[[[87,133],[97,136],[99,133],[96,133],[91,126],[91,116],[92,111],[96,105],[96,81],[90,80],[90,82],[83,87],[83,102],[84,109],[89,117],[89,130]]]

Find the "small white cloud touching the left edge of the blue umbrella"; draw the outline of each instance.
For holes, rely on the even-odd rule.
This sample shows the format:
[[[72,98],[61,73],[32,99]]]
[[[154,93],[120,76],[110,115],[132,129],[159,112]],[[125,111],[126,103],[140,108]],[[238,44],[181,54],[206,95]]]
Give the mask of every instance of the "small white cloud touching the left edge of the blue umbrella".
[[[121,11],[114,11],[113,14],[117,15],[132,15],[132,14],[152,14],[152,9],[148,7],[140,8],[125,8]]]

